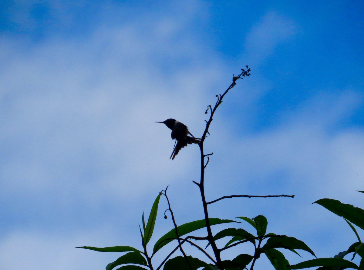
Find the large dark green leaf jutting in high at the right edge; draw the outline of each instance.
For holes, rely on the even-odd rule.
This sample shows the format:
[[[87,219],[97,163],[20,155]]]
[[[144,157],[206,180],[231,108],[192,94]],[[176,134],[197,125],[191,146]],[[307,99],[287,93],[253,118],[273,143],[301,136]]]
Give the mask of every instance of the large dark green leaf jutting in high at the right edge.
[[[314,203],[320,204],[329,211],[338,216],[345,217],[345,219],[357,225],[359,228],[364,229],[364,210],[359,207],[354,207],[351,204],[343,204],[340,201],[333,199],[321,199]]]

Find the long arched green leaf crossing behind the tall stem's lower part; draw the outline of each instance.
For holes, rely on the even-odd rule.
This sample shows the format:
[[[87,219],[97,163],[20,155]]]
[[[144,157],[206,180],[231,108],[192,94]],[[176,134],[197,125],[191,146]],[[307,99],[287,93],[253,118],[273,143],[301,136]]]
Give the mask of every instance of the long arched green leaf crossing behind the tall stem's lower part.
[[[210,218],[210,225],[216,225],[216,224],[223,224],[223,223],[230,223],[230,222],[237,222],[230,219],[217,219],[217,218]],[[182,224],[177,227],[177,231],[179,236],[188,234],[190,232],[196,231],[201,228],[206,227],[206,220],[195,220],[189,223]],[[162,247],[164,247],[166,244],[170,243],[174,239],[177,239],[176,231],[175,229],[171,229],[169,232],[167,232],[165,235],[163,235],[161,238],[158,239],[158,241],[155,243],[153,248],[153,254],[160,250]]]

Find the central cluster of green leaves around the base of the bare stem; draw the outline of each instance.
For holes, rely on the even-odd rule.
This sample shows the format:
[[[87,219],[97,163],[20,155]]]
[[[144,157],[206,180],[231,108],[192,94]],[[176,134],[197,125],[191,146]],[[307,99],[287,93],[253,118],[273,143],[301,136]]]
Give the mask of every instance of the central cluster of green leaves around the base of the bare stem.
[[[170,243],[174,240],[181,240],[181,246],[183,243],[193,243],[193,241],[198,240],[206,240],[206,238],[199,238],[196,236],[186,236],[191,232],[195,232],[199,229],[206,228],[205,220],[196,220],[186,224],[179,225],[176,229],[172,229],[167,234],[163,235],[159,238],[153,247],[153,254],[151,256],[148,255],[147,252],[147,244],[149,243],[151,234],[154,231],[154,223],[155,218],[157,216],[158,211],[158,202],[161,195],[165,195],[166,190],[163,190],[161,193],[158,194],[157,198],[154,201],[153,207],[151,209],[149,215],[149,221],[146,226],[143,225],[141,228],[141,236],[142,236],[142,243],[143,243],[143,250],[137,250],[136,248],[129,247],[129,246],[116,246],[116,247],[104,247],[104,248],[96,248],[96,247],[80,247],[86,248],[95,251],[103,251],[103,252],[127,252],[126,254],[120,256],[116,259],[115,262],[109,263],[106,267],[107,270],[112,270],[117,266],[126,265],[120,267],[118,269],[145,269],[143,266],[147,266],[150,269],[153,269],[148,262],[151,262],[153,256],[161,250],[167,243]],[[249,254],[240,254],[236,258],[231,261],[222,261],[222,265],[224,269],[244,269],[249,263],[254,263],[256,259],[260,257],[261,254],[265,254],[268,259],[272,262],[273,266],[276,269],[289,269],[288,268],[288,261],[285,259],[285,256],[277,250],[277,248],[285,248],[292,252],[297,253],[296,250],[305,250],[314,256],[313,251],[302,241],[288,237],[286,235],[276,235],[273,233],[266,234],[268,221],[267,219],[262,216],[256,216],[253,219],[248,217],[238,217],[238,219],[245,221],[244,224],[250,224],[253,226],[254,230],[256,231],[255,234],[250,234],[243,228],[226,228],[222,231],[219,231],[217,234],[214,235],[214,240],[227,238],[228,241],[224,247],[220,250],[224,251],[232,247],[236,247],[240,244],[249,243],[254,248],[254,256]],[[222,220],[217,218],[210,218],[210,225],[216,224],[224,224],[224,223],[241,223],[234,220]],[[142,217],[142,223],[145,224],[144,221],[144,214]],[[148,226],[148,224],[151,224]],[[176,234],[178,231],[178,235]],[[197,244],[194,245],[202,252],[205,253],[207,256],[207,252],[204,251],[202,247],[198,247]],[[208,243],[207,246],[209,246]],[[161,269],[164,264],[164,270],[178,270],[178,269],[198,269],[200,267],[204,267],[205,270],[214,270],[218,269],[216,266],[216,261],[213,258],[210,258],[210,262],[201,261],[198,258],[193,258],[192,256],[177,256],[175,258],[169,259],[169,257],[180,248],[179,244],[173,249],[172,252],[167,256],[165,261],[162,262],[156,269]],[[298,254],[298,253],[297,253]],[[208,256],[207,256],[208,258]],[[133,265],[133,268],[125,268],[127,266]],[[135,266],[137,265],[137,266]]]

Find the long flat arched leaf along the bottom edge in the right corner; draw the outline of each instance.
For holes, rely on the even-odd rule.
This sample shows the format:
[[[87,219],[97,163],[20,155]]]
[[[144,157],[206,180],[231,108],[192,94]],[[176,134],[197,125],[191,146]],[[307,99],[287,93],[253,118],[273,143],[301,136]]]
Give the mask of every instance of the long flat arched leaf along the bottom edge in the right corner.
[[[341,259],[341,258],[313,259],[310,261],[297,263],[296,265],[291,265],[290,269],[303,269],[303,268],[316,267],[316,266],[340,267],[341,269],[346,269],[346,268],[359,269],[359,267],[355,263],[352,263],[351,261],[347,261],[347,260]]]

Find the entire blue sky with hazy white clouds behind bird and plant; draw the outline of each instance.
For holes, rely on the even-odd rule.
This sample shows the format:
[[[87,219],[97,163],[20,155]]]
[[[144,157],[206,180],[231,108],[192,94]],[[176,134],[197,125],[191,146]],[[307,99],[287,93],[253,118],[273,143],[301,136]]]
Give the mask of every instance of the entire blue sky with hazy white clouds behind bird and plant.
[[[167,185],[178,224],[202,219],[199,149],[171,161],[154,121],[201,136],[245,65],[204,143],[207,200],[295,197],[226,199],[210,217],[264,215],[321,258],[356,242],[312,203],[364,207],[363,1],[226,2],[1,1],[1,269],[104,269],[122,254],[75,247],[141,249],[142,213]],[[166,208],[151,242],[173,228]]]

